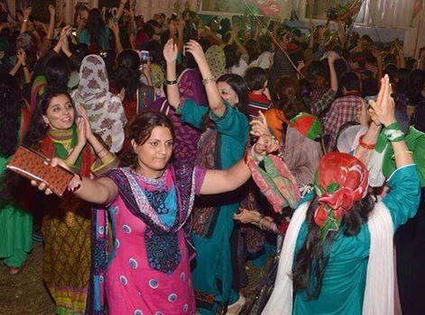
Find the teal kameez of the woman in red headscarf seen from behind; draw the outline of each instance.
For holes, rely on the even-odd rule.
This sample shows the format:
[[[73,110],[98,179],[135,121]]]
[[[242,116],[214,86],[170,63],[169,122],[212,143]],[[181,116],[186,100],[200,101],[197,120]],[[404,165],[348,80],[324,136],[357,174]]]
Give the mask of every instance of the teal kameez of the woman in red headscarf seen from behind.
[[[395,232],[418,209],[420,184],[416,167],[410,165],[398,168],[387,184],[391,190],[383,197],[383,203],[390,211]],[[306,236],[307,225],[304,222],[297,238],[295,253],[300,250]],[[319,297],[308,300],[305,291],[296,292],[292,314],[361,314],[369,248],[370,233],[367,223],[363,223],[359,233],[351,237],[344,236],[340,229],[331,245]]]

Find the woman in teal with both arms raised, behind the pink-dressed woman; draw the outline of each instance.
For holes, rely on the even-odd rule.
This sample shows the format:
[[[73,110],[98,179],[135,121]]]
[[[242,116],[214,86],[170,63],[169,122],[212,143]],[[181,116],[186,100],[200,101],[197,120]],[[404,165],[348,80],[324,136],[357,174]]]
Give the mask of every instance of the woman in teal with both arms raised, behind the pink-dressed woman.
[[[223,100],[199,43],[190,40],[186,51],[198,63],[204,78],[209,108],[199,106],[191,99],[181,102],[176,85],[177,48],[172,40],[164,48],[169,103],[177,109],[181,121],[199,129],[209,126],[199,140],[196,163],[226,169],[244,155],[249,130],[247,118],[236,108],[236,103]],[[199,157],[205,156],[205,151],[215,151],[214,157],[200,160]],[[232,304],[239,299],[238,293],[232,290],[229,243],[234,227],[233,214],[237,211],[239,201],[240,196],[238,199],[235,193],[219,195],[202,200],[202,204],[199,202],[198,207],[194,208],[191,237],[197,257],[191,273],[200,314],[216,314],[220,306],[226,308],[226,305],[230,306],[228,309],[232,309]],[[199,215],[197,211],[202,211],[202,214]],[[238,304],[235,307],[239,309]]]

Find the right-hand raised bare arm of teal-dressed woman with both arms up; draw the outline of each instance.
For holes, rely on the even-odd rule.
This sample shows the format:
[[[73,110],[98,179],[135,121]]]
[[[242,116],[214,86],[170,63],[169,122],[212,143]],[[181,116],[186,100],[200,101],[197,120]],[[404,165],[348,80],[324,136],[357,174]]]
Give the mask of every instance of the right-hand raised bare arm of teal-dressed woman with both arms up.
[[[218,91],[216,77],[212,75],[209,69],[207,58],[205,58],[202,47],[197,41],[190,40],[186,44],[186,51],[191,53],[198,63],[199,71],[203,78],[202,83],[205,85],[205,90],[207,92],[209,108],[216,116],[223,116],[226,111],[226,106]]]

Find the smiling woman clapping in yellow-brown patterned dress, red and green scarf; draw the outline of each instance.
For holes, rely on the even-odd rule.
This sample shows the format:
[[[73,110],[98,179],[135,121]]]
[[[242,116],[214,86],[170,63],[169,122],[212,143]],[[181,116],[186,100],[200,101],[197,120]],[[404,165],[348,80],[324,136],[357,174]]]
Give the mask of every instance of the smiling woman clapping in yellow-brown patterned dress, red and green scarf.
[[[75,173],[94,176],[116,166],[117,159],[92,133],[87,113],[67,92],[47,91],[32,113],[24,144],[47,157],[60,157]],[[49,197],[43,211],[43,279],[57,313],[83,314],[90,267],[90,207],[73,194]]]

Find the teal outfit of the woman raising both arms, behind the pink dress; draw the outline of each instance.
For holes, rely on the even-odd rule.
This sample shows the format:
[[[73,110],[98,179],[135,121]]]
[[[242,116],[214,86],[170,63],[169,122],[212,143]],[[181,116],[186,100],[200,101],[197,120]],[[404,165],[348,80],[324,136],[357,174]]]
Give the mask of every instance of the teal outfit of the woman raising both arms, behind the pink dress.
[[[245,152],[249,124],[242,112],[225,103],[226,112],[218,117],[209,112],[218,133],[219,168],[226,169],[236,164]],[[200,128],[208,107],[199,106],[191,99],[180,104],[178,113],[182,122]],[[192,281],[195,290],[214,295],[214,304],[210,309],[199,308],[200,314],[216,314],[218,303],[231,304],[238,299],[238,293],[232,290],[232,264],[230,255],[230,237],[234,226],[233,215],[239,202],[222,204],[217,220],[209,238],[192,233],[191,238],[197,251],[192,268]]]

